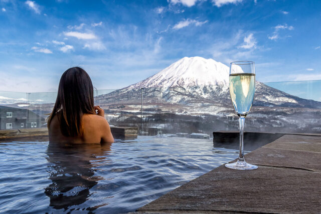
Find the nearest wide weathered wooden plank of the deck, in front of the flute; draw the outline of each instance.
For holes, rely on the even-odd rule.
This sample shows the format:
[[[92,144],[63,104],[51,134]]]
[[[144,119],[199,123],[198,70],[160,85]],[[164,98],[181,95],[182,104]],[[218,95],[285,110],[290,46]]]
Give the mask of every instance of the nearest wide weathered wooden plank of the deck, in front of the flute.
[[[319,213],[320,180],[320,172],[306,170],[260,166],[242,171],[220,166],[137,211]]]

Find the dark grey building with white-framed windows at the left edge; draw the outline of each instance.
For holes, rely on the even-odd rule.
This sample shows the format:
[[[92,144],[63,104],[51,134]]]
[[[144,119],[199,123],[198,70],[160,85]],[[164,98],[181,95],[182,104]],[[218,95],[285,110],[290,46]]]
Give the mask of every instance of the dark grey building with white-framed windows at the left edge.
[[[0,129],[40,128],[45,118],[21,108],[0,106]]]

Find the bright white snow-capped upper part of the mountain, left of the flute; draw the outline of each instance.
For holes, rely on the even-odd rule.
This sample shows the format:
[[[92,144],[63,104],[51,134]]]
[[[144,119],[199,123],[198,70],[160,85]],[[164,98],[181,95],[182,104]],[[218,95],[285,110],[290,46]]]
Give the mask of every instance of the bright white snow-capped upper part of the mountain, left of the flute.
[[[189,87],[228,84],[229,67],[213,59],[184,57],[129,88]]]

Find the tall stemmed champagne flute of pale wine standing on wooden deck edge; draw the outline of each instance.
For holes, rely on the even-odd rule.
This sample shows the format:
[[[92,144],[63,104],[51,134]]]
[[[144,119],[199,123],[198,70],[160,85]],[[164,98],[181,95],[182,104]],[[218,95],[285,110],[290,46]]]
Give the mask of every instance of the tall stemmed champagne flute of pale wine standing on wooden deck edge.
[[[240,153],[237,162],[225,164],[227,168],[251,170],[257,166],[245,162],[243,154],[244,122],[250,112],[255,93],[255,67],[251,61],[237,61],[230,65],[230,96],[240,123]]]

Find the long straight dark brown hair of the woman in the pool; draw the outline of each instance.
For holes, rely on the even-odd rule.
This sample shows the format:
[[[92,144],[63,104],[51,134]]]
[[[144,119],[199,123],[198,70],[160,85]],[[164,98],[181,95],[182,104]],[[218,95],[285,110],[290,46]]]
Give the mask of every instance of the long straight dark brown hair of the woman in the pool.
[[[57,115],[64,136],[81,136],[82,116],[86,113],[95,114],[94,89],[87,72],[73,67],[60,78],[56,103],[48,117],[48,128]]]

